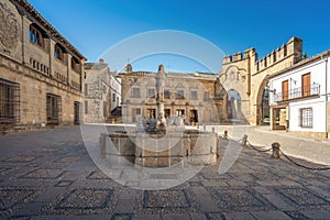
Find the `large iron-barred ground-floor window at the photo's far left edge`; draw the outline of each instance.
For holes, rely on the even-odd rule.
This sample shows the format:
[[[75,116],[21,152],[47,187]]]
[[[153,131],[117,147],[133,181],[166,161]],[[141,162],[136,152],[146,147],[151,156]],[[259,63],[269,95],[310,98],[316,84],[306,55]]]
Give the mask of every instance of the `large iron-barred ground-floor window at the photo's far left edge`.
[[[0,123],[20,121],[20,85],[0,78]]]

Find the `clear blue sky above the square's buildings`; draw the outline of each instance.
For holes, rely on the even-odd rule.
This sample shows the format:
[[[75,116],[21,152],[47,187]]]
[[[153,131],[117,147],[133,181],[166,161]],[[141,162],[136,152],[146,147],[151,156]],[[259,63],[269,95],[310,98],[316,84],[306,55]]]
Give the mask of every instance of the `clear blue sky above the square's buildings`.
[[[107,50],[124,38],[156,30],[177,30],[198,35],[226,54],[255,47],[260,58],[286,43],[292,36],[302,38],[304,52],[308,56],[330,48],[330,3],[326,0],[29,2],[76,46],[88,62],[97,62]],[[162,58],[166,59],[164,56]],[[141,63],[135,61],[136,68],[153,70],[151,68],[155,66],[156,69],[158,63],[155,61],[158,59],[160,57],[145,62],[144,57]],[[108,63],[111,68],[111,62]],[[164,61],[164,66],[184,72],[206,70],[195,61],[179,58],[175,62],[173,57]],[[135,65],[133,68],[138,70]]]

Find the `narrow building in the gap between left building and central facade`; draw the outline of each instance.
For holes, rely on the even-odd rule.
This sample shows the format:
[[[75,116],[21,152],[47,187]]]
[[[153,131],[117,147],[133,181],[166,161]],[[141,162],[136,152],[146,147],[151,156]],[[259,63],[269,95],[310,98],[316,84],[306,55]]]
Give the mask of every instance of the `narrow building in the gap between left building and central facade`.
[[[84,77],[84,122],[105,123],[112,119],[121,102],[121,82],[116,72],[110,72],[108,64],[85,64]]]

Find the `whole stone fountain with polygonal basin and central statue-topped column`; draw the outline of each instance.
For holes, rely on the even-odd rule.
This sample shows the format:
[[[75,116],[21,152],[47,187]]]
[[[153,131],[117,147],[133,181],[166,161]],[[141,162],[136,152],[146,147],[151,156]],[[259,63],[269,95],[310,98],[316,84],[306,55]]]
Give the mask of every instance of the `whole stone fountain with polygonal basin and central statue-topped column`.
[[[219,148],[217,133],[186,130],[182,117],[165,119],[163,65],[158,66],[155,78],[157,118],[138,116],[135,129],[102,133],[101,153],[142,167],[215,164]]]

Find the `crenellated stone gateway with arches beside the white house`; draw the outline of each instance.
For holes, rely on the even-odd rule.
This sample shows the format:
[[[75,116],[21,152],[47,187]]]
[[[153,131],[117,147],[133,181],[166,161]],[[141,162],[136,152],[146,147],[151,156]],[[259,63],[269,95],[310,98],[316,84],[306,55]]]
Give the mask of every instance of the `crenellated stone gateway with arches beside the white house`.
[[[240,112],[235,119],[250,124],[262,124],[263,116],[265,116],[265,111],[263,111],[265,105],[263,103],[267,78],[301,61],[301,54],[302,41],[292,37],[286,44],[261,59],[257,59],[254,48],[246,50],[244,54],[226,56],[219,73],[219,82],[226,98],[231,96],[231,91],[240,95],[240,102],[238,102]],[[229,108],[228,105],[234,107],[238,103],[231,102],[231,99],[227,101],[227,113],[222,116],[224,121],[233,119],[228,110],[232,107]]]

